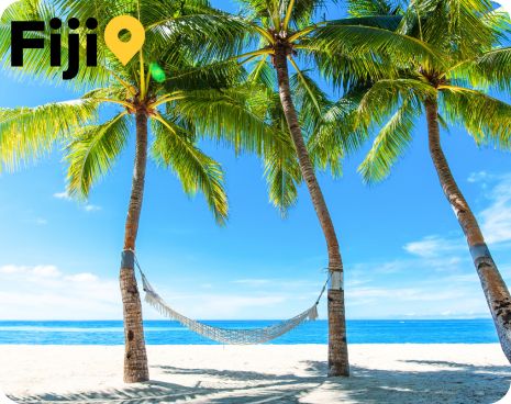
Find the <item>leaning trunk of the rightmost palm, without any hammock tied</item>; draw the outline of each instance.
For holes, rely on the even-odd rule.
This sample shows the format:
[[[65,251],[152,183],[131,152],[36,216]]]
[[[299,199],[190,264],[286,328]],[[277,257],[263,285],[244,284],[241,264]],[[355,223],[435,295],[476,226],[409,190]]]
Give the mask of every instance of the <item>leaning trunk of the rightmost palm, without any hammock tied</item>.
[[[430,154],[451,206],[465,233],[474,265],[481,281],[488,306],[499,335],[502,350],[511,362],[511,296],[500,272],[491,258],[485,237],[474,213],[451,172],[440,142],[438,105],[436,100],[425,102]]]

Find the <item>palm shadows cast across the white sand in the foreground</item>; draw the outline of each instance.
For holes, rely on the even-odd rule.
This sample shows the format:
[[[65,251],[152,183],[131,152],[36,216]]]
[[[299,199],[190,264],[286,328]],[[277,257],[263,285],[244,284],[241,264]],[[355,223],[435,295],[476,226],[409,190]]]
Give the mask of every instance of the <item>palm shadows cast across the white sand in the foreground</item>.
[[[251,371],[153,367],[165,379],[196,375],[195,386],[151,381],[121,390],[11,396],[19,403],[445,403],[491,404],[509,390],[511,368],[444,361],[407,361],[427,371],[402,372],[353,368],[349,379],[326,379],[324,362],[306,362],[306,372],[267,374]],[[438,370],[431,371],[431,367]]]

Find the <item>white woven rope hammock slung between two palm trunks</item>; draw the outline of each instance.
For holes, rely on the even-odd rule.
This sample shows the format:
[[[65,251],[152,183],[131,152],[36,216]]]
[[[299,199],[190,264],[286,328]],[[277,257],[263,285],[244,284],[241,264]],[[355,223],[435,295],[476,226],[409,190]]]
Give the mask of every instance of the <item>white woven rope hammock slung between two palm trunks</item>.
[[[291,329],[297,328],[307,321],[315,321],[318,318],[318,305],[330,280],[329,276],[329,279],[326,279],[326,282],[324,283],[314,305],[292,318],[263,328],[222,328],[191,319],[171,308],[151,285],[146,276],[142,271],[136,256],[134,257],[134,261],[138,272],[141,273],[142,284],[145,292],[145,301],[149,305],[152,305],[163,316],[177,321],[193,333],[225,345],[255,345],[268,343],[289,333]]]

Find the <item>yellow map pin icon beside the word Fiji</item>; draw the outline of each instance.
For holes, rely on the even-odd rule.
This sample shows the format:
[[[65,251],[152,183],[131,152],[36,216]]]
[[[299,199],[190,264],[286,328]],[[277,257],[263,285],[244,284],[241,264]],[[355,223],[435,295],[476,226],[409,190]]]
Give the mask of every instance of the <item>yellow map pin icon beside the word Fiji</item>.
[[[121,31],[130,31],[130,41],[121,41]],[[125,66],[142,49],[145,42],[145,29],[142,23],[131,15],[115,16],[104,29],[104,42],[110,50]]]

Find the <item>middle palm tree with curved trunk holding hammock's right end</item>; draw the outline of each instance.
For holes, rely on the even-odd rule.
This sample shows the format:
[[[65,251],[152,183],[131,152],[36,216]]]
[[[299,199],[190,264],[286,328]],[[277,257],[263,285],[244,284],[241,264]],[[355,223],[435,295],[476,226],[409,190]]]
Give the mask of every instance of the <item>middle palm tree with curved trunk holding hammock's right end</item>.
[[[398,55],[415,55],[424,60],[433,53],[423,43],[393,33],[396,18],[377,16],[314,22],[323,5],[321,0],[240,0],[242,16],[215,15],[214,24],[230,27],[229,35],[215,37],[208,50],[221,64],[222,58],[235,55],[241,64],[254,65],[252,76],[268,81],[273,70],[287,128],[296,149],[301,176],[307,184],[327,247],[329,271],[329,374],[348,375],[348,352],[344,307],[343,261],[337,235],[323,192],[316,179],[314,161],[307,148],[306,127],[314,127],[321,120],[324,104],[316,99],[310,77],[300,70],[298,57],[312,61],[325,78],[336,86],[348,85],[354,77],[378,74],[377,54],[389,48]],[[213,24],[213,25],[214,25]],[[222,43],[222,40],[224,42]],[[255,46],[246,52],[246,46]],[[208,49],[210,49],[208,47]],[[242,50],[242,52],[241,52]],[[268,57],[271,65],[268,64]],[[288,61],[297,71],[301,89],[309,99],[310,116],[301,114],[290,83]],[[340,105],[333,105],[338,108]],[[330,162],[337,168],[338,164]]]

